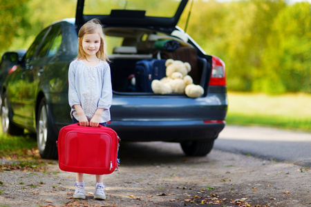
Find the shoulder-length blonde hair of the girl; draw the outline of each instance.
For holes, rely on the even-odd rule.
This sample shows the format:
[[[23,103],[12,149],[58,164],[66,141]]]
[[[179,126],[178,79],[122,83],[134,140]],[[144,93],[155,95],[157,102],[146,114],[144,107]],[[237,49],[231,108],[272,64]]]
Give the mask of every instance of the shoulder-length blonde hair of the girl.
[[[97,33],[100,35],[100,50],[96,53],[96,57],[101,59],[102,61],[109,61],[108,53],[106,49],[106,41],[104,37],[104,29],[98,19],[91,19],[90,21],[84,23],[82,28],[79,30],[78,37],[79,37],[79,49],[77,54],[77,59],[86,59],[86,53],[82,47],[82,40],[84,34],[94,34]]]

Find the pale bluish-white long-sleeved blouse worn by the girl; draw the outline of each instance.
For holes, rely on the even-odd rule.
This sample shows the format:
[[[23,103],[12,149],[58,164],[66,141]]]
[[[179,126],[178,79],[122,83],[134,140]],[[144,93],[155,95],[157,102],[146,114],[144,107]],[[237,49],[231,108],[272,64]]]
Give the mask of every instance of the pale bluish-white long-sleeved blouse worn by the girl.
[[[110,121],[112,102],[111,72],[106,61],[97,66],[88,67],[82,60],[74,60],[68,70],[68,101],[71,107],[70,116],[78,119],[75,104],[82,106],[84,113],[91,121],[97,108],[104,108],[100,123]]]

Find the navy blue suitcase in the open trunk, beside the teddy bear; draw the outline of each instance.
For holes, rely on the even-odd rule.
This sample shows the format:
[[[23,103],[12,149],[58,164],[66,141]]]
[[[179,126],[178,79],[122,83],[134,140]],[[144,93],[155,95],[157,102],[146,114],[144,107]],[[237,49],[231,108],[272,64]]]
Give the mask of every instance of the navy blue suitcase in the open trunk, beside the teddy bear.
[[[135,64],[135,88],[137,92],[152,92],[151,82],[165,77],[165,59],[144,59]]]

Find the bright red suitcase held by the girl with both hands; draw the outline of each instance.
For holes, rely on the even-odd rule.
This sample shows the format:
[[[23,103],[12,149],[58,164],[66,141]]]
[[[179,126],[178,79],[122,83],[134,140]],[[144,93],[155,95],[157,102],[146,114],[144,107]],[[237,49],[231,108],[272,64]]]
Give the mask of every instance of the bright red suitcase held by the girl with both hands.
[[[105,126],[70,124],[58,135],[59,168],[93,175],[110,174],[119,165],[117,133]]]

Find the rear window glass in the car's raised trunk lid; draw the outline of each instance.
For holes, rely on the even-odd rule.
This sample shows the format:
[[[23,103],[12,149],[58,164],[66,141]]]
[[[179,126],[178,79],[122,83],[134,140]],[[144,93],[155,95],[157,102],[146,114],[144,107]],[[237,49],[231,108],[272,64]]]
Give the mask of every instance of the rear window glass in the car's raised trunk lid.
[[[85,15],[109,15],[111,10],[143,10],[147,17],[173,17],[181,0],[85,0]]]

